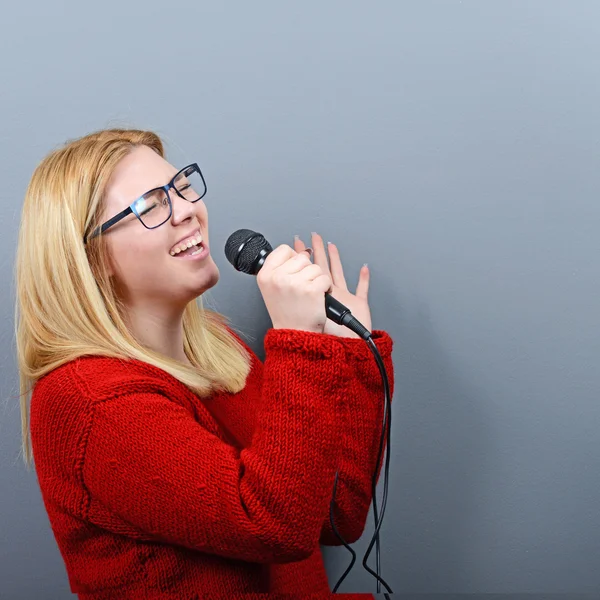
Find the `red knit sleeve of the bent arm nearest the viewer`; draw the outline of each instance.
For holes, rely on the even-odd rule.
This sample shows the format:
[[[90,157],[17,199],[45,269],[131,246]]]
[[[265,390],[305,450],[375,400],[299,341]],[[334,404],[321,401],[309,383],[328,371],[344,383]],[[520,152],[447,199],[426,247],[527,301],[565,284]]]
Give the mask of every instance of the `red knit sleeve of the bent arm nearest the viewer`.
[[[83,453],[91,498],[152,539],[250,562],[317,547],[349,374],[329,336],[269,330],[252,443],[238,450],[156,393],[98,402]]]

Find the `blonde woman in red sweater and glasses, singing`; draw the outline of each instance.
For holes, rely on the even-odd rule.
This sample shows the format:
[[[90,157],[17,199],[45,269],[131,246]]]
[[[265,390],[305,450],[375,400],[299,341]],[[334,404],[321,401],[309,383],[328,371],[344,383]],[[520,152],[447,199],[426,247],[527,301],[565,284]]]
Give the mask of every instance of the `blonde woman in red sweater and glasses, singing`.
[[[314,264],[300,239],[276,248],[257,278],[263,364],[196,302],[219,279],[205,192],[196,164],[175,168],[137,130],[72,141],[27,190],[23,447],[80,598],[326,595],[336,471],[336,528],[348,543],[364,528],[382,385],[323,294],[370,329],[368,270],[352,294],[320,236]],[[392,341],[372,333],[393,385]]]

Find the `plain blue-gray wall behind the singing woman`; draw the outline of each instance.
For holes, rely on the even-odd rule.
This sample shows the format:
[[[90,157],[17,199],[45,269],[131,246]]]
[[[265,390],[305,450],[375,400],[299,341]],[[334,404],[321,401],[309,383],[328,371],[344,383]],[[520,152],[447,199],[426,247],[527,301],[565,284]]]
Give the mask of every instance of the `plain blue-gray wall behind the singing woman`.
[[[396,342],[395,592],[600,591],[598,2],[39,1],[1,20],[2,598],[70,597],[18,457],[20,206],[48,151],[115,125],[202,165],[210,300],[259,354],[229,233],[316,230],[353,284],[370,263]],[[326,558],[333,585],[349,557]],[[344,590],[375,590],[360,560]]]

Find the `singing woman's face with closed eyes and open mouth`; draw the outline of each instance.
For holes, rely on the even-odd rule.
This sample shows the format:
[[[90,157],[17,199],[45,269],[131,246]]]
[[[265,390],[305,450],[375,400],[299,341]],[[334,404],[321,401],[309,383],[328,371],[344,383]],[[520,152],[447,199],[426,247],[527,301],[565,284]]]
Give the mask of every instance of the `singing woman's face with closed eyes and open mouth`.
[[[185,165],[181,165],[183,167]],[[181,168],[180,167],[180,168]],[[102,221],[127,208],[145,192],[166,185],[179,168],[147,146],[135,148],[117,165],[105,194]],[[104,234],[111,275],[129,307],[142,305],[181,308],[219,280],[219,268],[209,253],[177,253],[186,242],[202,238],[208,248],[208,213],[202,200],[191,203],[169,191],[173,214],[156,229],[146,229],[131,214]],[[168,214],[168,213],[167,213]]]

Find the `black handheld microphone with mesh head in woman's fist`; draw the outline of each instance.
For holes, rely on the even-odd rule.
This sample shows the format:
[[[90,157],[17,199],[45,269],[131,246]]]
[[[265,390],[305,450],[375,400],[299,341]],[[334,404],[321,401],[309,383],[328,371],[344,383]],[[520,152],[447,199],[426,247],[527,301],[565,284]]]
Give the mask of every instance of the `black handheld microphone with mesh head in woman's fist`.
[[[225,243],[225,256],[233,268],[249,275],[256,275],[260,271],[272,250],[265,237],[251,229],[234,231]],[[371,332],[329,292],[325,292],[325,313],[328,319],[354,331],[363,340],[371,338]]]

